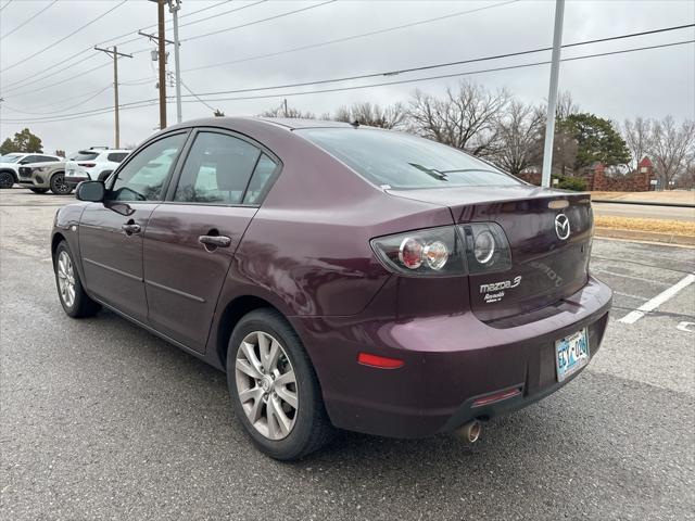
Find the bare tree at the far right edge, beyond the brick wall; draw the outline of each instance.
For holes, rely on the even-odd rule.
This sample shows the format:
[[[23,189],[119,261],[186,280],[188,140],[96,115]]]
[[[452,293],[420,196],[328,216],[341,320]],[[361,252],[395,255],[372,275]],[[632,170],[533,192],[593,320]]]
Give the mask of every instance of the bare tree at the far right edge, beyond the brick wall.
[[[685,171],[695,151],[695,122],[683,120],[678,125],[671,116],[654,122],[649,156],[654,162],[661,186],[671,187],[679,174]]]

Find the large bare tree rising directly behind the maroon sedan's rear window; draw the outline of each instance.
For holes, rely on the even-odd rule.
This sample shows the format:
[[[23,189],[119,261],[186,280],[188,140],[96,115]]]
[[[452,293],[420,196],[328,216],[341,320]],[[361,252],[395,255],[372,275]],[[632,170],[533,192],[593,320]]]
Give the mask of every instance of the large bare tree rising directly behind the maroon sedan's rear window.
[[[417,90],[408,111],[410,130],[475,155],[491,155],[509,101],[505,89],[491,92],[468,81],[458,90],[447,89],[443,99]]]

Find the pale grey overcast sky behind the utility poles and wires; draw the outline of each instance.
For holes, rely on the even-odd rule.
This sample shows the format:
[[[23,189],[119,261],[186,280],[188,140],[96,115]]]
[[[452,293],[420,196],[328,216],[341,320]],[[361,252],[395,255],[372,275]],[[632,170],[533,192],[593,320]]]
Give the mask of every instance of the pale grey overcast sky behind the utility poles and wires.
[[[184,0],[179,37],[182,40],[180,59],[185,85],[201,93],[309,82],[545,48],[552,46],[553,40],[555,2],[552,0],[339,0],[319,5],[324,1]],[[313,5],[318,7],[235,28]],[[205,8],[211,9],[189,14]],[[43,140],[46,152],[113,145],[113,113],[75,116],[79,112],[113,107],[112,61],[108,55],[90,50],[94,45],[118,43],[118,51],[134,53],[132,59],[118,61],[122,104],[156,98],[156,63],[150,55],[154,45],[137,36],[138,29],[156,30],[153,27],[156,24],[154,3],[147,0],[0,0],[0,97],[4,98],[0,110],[0,140],[29,127]],[[45,12],[15,30],[43,9]],[[112,11],[77,30],[109,10]],[[237,11],[229,12],[232,10]],[[312,49],[241,61],[437,17],[443,18]],[[210,20],[197,23],[201,18]],[[563,42],[693,22],[695,2],[692,0],[568,0]],[[170,29],[168,12],[166,25]],[[76,33],[68,36],[73,31]],[[211,31],[219,33],[197,38]],[[170,30],[167,30],[167,37],[170,37]],[[191,39],[186,41],[188,38]],[[693,39],[695,29],[685,28],[576,47],[565,50],[563,58]],[[227,115],[255,115],[279,105],[287,93],[458,74],[542,62],[549,56],[549,52],[541,52],[397,76],[217,97],[207,94],[204,98],[269,96],[267,99],[207,102]],[[190,71],[231,61],[237,63]],[[173,52],[168,67],[174,69]],[[549,65],[541,65],[480,73],[467,78],[490,89],[506,87],[526,102],[542,103],[547,98],[548,76]],[[441,93],[458,80],[450,77],[287,98],[291,106],[323,114],[358,101],[380,104],[407,101],[416,88]],[[566,62],[560,68],[559,84],[561,90],[571,91],[582,110],[614,120],[635,116],[664,117],[667,114],[692,118],[695,117],[695,45]],[[168,88],[167,94],[174,94],[174,89]],[[184,94],[189,94],[189,91],[184,89]],[[210,107],[195,99],[187,97],[185,100],[184,119],[212,114]],[[56,120],[61,118],[64,120]],[[169,125],[175,120],[176,107],[170,103]],[[157,125],[159,109],[155,104],[123,107],[122,144],[139,143]]]

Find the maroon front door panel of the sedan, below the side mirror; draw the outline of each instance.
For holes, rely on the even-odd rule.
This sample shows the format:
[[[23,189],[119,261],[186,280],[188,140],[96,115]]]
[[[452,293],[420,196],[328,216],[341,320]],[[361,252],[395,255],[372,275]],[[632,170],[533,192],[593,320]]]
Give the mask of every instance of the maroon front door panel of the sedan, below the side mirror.
[[[157,204],[131,204],[134,213],[125,216],[102,203],[92,203],[83,213],[79,226],[87,289],[141,321],[147,321],[148,315],[142,283],[142,232]],[[139,225],[140,232],[126,233],[124,225]]]

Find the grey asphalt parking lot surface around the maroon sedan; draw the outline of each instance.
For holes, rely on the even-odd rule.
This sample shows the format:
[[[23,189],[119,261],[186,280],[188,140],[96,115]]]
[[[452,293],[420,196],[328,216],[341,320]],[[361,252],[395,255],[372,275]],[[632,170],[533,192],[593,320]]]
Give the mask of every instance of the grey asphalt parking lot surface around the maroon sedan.
[[[288,465],[247,441],[223,373],[112,313],[64,315],[48,238],[71,200],[0,192],[0,519],[695,519],[695,284],[620,321],[695,250],[596,239],[602,351],[475,446],[345,433]]]

